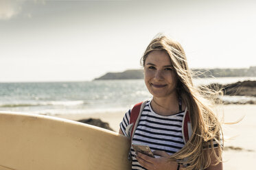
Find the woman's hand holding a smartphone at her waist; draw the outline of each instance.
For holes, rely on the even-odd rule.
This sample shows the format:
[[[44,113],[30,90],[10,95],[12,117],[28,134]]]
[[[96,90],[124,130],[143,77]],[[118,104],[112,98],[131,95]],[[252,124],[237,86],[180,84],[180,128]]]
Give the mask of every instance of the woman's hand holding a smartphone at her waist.
[[[159,158],[152,158],[145,154],[138,153],[137,160],[139,164],[148,170],[176,170],[178,164],[176,161],[170,160],[170,155],[165,151],[154,151],[154,155],[160,156]]]

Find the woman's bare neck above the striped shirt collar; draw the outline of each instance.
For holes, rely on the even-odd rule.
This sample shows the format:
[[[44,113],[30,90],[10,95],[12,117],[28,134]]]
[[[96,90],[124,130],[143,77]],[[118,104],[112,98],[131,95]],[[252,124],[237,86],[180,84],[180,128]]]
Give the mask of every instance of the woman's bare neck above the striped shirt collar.
[[[178,96],[167,98],[153,97],[151,107],[157,114],[170,116],[179,112]]]

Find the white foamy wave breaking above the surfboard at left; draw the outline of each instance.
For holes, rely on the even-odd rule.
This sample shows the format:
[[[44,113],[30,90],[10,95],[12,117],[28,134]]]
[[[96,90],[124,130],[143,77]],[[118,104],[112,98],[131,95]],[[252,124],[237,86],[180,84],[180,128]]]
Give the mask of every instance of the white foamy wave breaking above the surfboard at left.
[[[27,103],[9,103],[0,104],[0,108],[19,108],[19,107],[34,107],[34,106],[78,106],[86,104],[85,101],[40,101]]]

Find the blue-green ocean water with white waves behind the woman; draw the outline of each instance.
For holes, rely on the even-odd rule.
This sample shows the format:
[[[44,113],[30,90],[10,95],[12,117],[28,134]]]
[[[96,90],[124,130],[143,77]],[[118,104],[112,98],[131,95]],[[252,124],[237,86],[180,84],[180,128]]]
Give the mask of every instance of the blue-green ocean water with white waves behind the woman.
[[[244,80],[256,80],[256,77],[194,79],[194,84],[230,84]],[[0,111],[51,116],[123,112],[150,97],[143,80],[0,83]],[[246,101],[256,100],[256,97],[225,96],[224,100]]]

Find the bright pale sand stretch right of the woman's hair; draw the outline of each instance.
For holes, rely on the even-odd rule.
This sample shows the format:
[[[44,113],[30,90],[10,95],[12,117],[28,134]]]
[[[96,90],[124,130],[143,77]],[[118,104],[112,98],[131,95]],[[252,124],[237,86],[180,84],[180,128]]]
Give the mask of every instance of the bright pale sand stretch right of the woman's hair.
[[[225,147],[235,147],[224,151],[224,169],[256,169],[256,105],[227,105],[223,107],[225,121],[240,123],[224,125]]]

